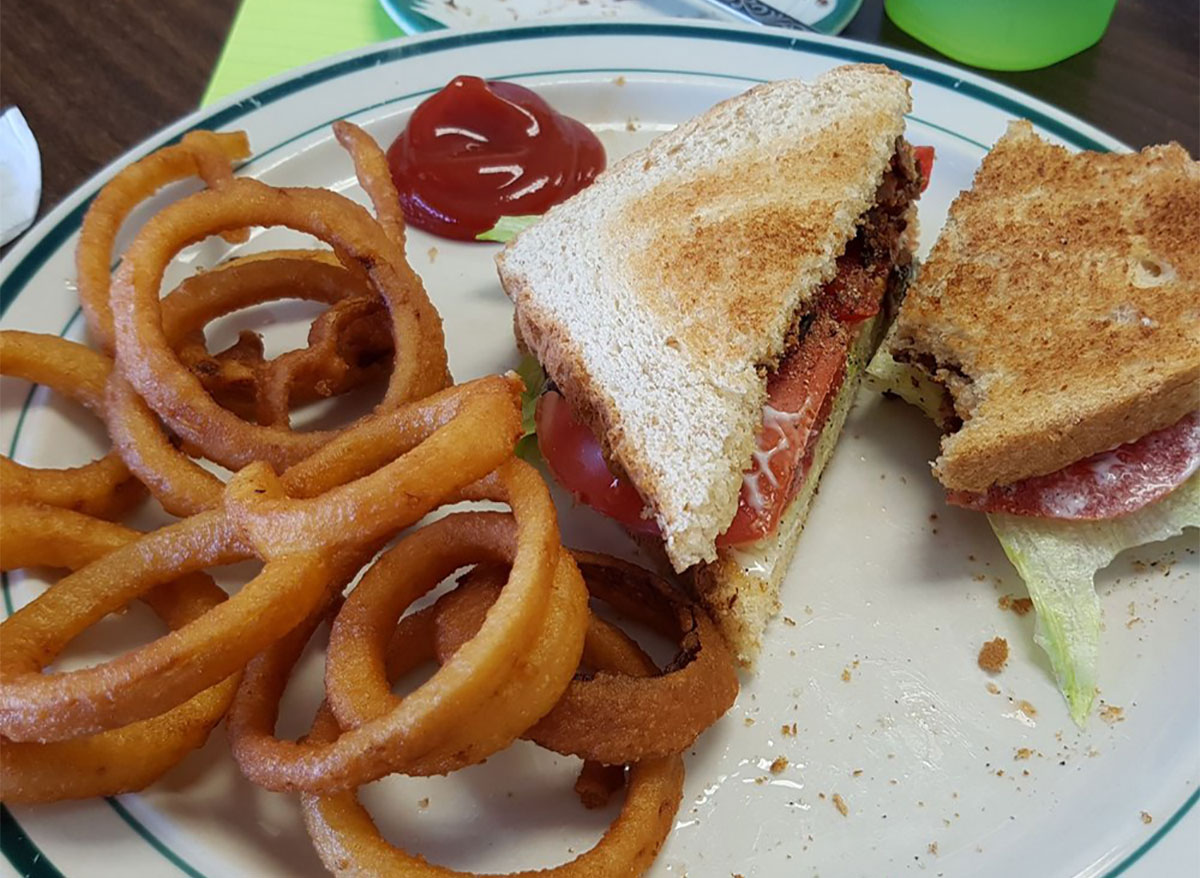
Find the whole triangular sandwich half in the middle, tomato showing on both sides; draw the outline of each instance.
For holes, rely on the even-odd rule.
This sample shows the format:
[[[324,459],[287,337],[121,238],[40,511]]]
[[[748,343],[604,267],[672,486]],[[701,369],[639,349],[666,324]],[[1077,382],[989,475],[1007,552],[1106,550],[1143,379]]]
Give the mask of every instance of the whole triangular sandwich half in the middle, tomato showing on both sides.
[[[547,375],[551,471],[660,546],[745,664],[908,281],[923,180],[908,109],[882,66],[756,86],[497,258]]]

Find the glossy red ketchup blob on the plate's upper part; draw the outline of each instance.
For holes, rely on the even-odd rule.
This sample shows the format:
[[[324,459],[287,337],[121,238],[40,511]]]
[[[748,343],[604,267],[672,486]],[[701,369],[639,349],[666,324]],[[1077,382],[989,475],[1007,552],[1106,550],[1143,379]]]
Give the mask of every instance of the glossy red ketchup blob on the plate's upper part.
[[[502,216],[545,214],[604,170],[586,126],[512,83],[455,77],[388,149],[413,225],[463,241]]]

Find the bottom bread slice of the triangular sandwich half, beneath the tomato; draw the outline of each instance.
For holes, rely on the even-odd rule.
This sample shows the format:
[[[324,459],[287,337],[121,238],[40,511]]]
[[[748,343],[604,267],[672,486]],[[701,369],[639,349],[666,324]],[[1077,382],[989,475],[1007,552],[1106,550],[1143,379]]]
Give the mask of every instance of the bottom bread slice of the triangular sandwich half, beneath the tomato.
[[[751,546],[721,549],[715,561],[700,565],[692,573],[697,599],[716,621],[743,667],[754,667],[762,650],[767,624],[781,608],[780,589],[816,499],[821,474],[833,456],[866,363],[880,345],[887,325],[886,318],[880,315],[864,323],[859,330],[851,349],[846,379],[817,440],[812,468],[799,493],[784,510],[775,533]]]

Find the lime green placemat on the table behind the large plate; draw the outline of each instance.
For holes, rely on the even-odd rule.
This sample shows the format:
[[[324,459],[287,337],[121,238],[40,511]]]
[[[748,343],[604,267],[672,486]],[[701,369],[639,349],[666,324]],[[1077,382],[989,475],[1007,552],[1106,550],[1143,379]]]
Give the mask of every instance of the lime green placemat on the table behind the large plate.
[[[401,35],[376,0],[244,0],[200,104],[310,61]]]

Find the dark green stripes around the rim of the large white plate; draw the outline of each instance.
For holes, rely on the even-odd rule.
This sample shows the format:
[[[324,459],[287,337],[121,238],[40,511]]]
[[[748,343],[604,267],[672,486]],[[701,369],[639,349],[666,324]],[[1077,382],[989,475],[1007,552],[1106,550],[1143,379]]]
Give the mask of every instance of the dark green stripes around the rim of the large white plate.
[[[716,40],[722,42],[738,42],[749,43],[758,46],[769,46],[773,48],[786,48],[794,49],[799,52],[806,52],[810,54],[822,55],[827,58],[836,58],[845,61],[868,61],[868,62],[882,62],[887,64],[893,70],[904,73],[910,79],[918,82],[925,82],[934,85],[948,86],[958,91],[959,94],[974,97],[991,107],[1002,109],[1008,113],[1015,113],[1016,115],[1028,119],[1034,125],[1040,128],[1054,133],[1055,136],[1062,138],[1067,143],[1078,146],[1079,149],[1097,150],[1102,152],[1109,151],[1109,145],[1102,143],[1090,134],[1073,127],[1069,121],[1063,121],[1062,119],[1048,115],[1045,112],[1039,109],[1037,106],[1028,103],[1022,103],[1020,100],[1009,97],[1008,95],[1000,94],[996,86],[986,84],[986,80],[973,82],[970,79],[962,79],[959,76],[947,73],[942,70],[930,68],[925,62],[920,61],[914,56],[900,55],[895,56],[892,54],[886,54],[882,52],[874,50],[871,47],[863,43],[854,43],[851,41],[838,41],[836,43],[823,42],[820,37],[814,37],[812,35],[797,34],[797,32],[773,32],[768,30],[724,30],[718,28],[706,28],[700,25],[685,25],[685,24],[635,24],[629,22],[600,22],[600,23],[575,23],[575,24],[554,24],[554,25],[534,25],[524,29],[506,29],[497,31],[481,31],[481,32],[451,32],[445,36],[438,36],[433,38],[421,40],[419,42],[401,42],[388,48],[377,49],[373,52],[367,52],[365,54],[353,55],[341,61],[332,61],[317,66],[314,68],[308,68],[304,73],[278,82],[274,85],[266,86],[259,91],[251,91],[240,98],[233,100],[228,106],[214,110],[209,114],[198,113],[192,118],[191,125],[181,131],[179,131],[173,137],[163,137],[160,140],[148,142],[143,144],[140,149],[133,151],[134,155],[142,155],[150,149],[157,149],[168,143],[174,143],[182,137],[187,131],[194,131],[197,128],[220,128],[221,126],[228,125],[241,116],[253,113],[262,107],[280,101],[289,95],[298,91],[302,91],[311,85],[316,85],[329,79],[335,79],[346,73],[352,73],[367,67],[378,66],[384,62],[396,61],[404,58],[413,58],[419,55],[430,54],[433,52],[442,52],[448,49],[463,48],[468,46],[488,44],[496,42],[514,42],[517,40],[546,40],[560,36],[570,36],[586,34],[587,36],[668,36],[668,37],[686,37],[686,38],[702,38],[702,40]],[[702,76],[702,77],[720,77],[726,79],[738,79],[743,82],[761,82],[752,77],[738,77],[731,74],[714,74],[704,71],[678,71],[678,70],[655,70],[655,68],[640,68],[630,70],[626,67],[620,68],[624,72],[644,72],[644,73],[667,73],[667,74],[684,74],[684,76]],[[498,77],[503,79],[520,79],[533,76],[546,76],[548,73],[586,73],[586,72],[600,72],[595,68],[593,70],[575,70],[575,71],[535,71],[527,73],[514,73],[506,77]],[[616,72],[616,71],[604,71],[604,72]],[[970,74],[968,74],[970,76]],[[349,116],[359,115],[361,113],[371,112],[380,106],[386,106],[390,103],[397,103],[401,101],[412,100],[413,97],[419,97],[434,91],[434,89],[426,89],[419,92],[413,92],[410,95],[403,95],[400,97],[390,98],[388,101],[372,104],[370,107],[360,108]],[[1033,98],[1028,98],[1033,101]],[[985,144],[980,144],[971,138],[967,138],[959,132],[950,131],[942,126],[928,122],[925,120],[911,116],[914,121],[919,121],[930,127],[937,128],[943,133],[958,137],[967,143],[971,143],[983,150],[986,150]],[[1068,118],[1069,119],[1069,118]],[[330,122],[334,120],[329,120]],[[295,137],[288,138],[288,140],[276,144],[275,146],[265,150],[262,154],[252,156],[247,163],[263,158],[264,156],[274,152],[278,149],[284,148],[289,143],[293,143],[302,137],[325,127],[329,122],[324,122],[319,126],[314,126],[308,131],[301,132]],[[1084,122],[1076,121],[1075,125],[1084,127]],[[1090,127],[1090,126],[1086,126]],[[122,160],[133,161],[133,157]],[[30,278],[37,272],[52,253],[54,253],[62,242],[74,234],[79,224],[83,222],[83,216],[91,204],[95,193],[103,185],[103,179],[101,175],[94,178],[89,186],[91,192],[86,198],[84,198],[78,205],[76,205],[70,212],[66,214],[61,220],[58,221],[34,245],[34,247],[20,259],[20,261],[8,272],[4,278],[2,284],[0,284],[0,315],[2,315],[8,306],[16,301],[17,296],[22,293],[25,285],[29,283]],[[60,335],[66,335],[71,325],[78,319],[80,312],[76,312],[71,320],[64,326]],[[20,416],[18,417],[17,429],[13,433],[12,443],[10,446],[10,455],[13,453],[17,444],[17,439],[20,434],[20,428],[24,423],[25,411],[28,410],[34,391],[31,390],[25,399],[22,408]],[[0,576],[0,587],[4,591],[4,605],[6,614],[13,612],[12,599],[8,589],[8,577],[7,575]],[[1150,850],[1158,841],[1166,835],[1172,826],[1175,826],[1183,816],[1196,804],[1200,799],[1200,790],[1194,790],[1187,801],[1154,832],[1150,838],[1147,838],[1142,844],[1140,844],[1132,854],[1129,854],[1124,860],[1122,860],[1112,871],[1108,872],[1105,878],[1117,878],[1117,876],[1126,872],[1134,862],[1136,862],[1147,850]],[[167,859],[172,865],[179,868],[184,874],[190,878],[204,878],[204,874],[187,864],[182,858],[180,858],[174,850],[172,850],[167,844],[162,842],[157,836],[151,832],[145,824],[138,820],[130,811],[120,804],[115,798],[106,799],[108,805],[113,811],[148,844],[150,844],[155,850],[157,850],[164,859]],[[4,853],[5,858],[10,864],[26,878],[61,878],[62,873],[44,856],[41,849],[34,843],[25,830],[20,826],[17,819],[12,816],[12,812],[4,805],[0,805],[0,852]]]

